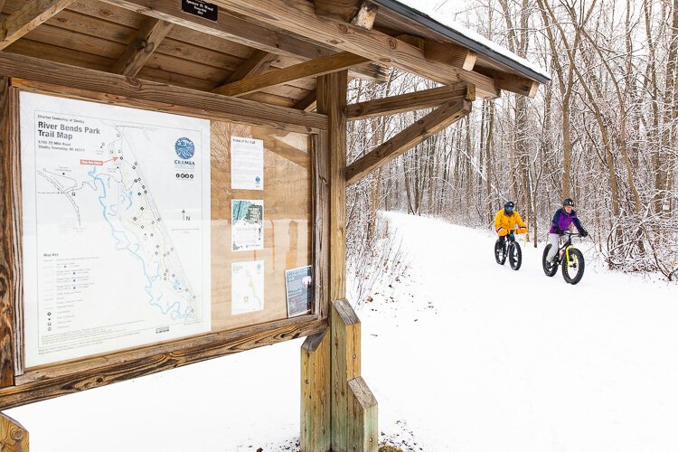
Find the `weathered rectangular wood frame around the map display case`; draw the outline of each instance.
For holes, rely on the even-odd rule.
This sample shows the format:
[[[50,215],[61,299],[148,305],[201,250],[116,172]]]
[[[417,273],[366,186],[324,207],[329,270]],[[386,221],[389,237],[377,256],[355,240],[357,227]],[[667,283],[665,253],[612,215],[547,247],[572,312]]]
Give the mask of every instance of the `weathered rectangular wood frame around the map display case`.
[[[9,80],[9,82],[8,82]],[[24,372],[21,312],[21,184],[19,181],[18,92],[20,89],[89,99],[129,107],[155,109],[201,118],[278,128],[309,135],[312,152],[314,199],[313,264],[316,274],[315,314],[301,315],[262,325],[203,334],[133,351],[108,353]],[[202,108],[194,108],[194,105]],[[4,207],[0,211],[3,235],[0,253],[0,410],[37,400],[83,391],[116,381],[161,372],[209,358],[237,353],[262,345],[325,332],[328,327],[329,261],[327,220],[327,117],[288,108],[226,98],[217,94],[181,89],[67,65],[0,54],[0,167]]]

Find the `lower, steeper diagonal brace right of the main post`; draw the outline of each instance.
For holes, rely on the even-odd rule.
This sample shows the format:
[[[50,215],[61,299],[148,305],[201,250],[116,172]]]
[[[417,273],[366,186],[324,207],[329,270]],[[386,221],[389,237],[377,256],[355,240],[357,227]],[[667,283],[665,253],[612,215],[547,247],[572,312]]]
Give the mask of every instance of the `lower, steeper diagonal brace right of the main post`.
[[[346,182],[353,184],[373,170],[390,162],[414,146],[419,145],[439,130],[449,126],[460,118],[464,118],[471,111],[471,102],[457,100],[447,102],[430,112],[424,118],[407,127],[400,134],[392,137],[381,146],[375,147],[346,168]]]

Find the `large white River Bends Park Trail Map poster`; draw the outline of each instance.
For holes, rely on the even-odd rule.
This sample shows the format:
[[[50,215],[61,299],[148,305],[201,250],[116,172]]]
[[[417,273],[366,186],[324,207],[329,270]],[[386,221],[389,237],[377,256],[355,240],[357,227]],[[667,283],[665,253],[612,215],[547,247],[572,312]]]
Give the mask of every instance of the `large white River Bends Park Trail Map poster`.
[[[210,331],[210,121],[22,92],[25,365]]]

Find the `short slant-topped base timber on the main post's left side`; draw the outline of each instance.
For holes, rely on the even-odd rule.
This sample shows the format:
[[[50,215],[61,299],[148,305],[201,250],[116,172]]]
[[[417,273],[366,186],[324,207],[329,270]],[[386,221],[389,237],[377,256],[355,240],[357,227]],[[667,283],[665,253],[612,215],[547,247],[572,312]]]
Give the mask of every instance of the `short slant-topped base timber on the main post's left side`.
[[[306,337],[301,346],[301,450],[330,450],[330,334]]]

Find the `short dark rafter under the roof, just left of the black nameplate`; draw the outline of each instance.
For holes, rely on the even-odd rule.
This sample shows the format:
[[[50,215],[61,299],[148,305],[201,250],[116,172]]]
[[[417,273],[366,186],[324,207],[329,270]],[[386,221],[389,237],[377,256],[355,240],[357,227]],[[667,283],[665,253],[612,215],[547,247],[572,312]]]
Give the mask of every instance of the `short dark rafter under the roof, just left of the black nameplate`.
[[[155,17],[148,17],[139,27],[132,42],[127,45],[125,52],[118,58],[112,71],[127,77],[135,77],[173,26],[174,24]]]

